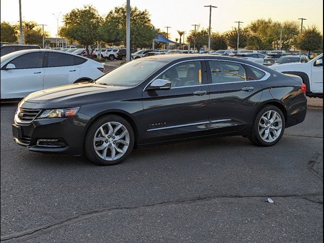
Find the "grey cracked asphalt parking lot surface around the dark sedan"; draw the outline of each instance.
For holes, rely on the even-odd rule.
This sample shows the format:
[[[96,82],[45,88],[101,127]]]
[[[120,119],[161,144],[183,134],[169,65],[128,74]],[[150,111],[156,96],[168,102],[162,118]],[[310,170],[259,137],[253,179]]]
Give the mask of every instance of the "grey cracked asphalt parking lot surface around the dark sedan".
[[[210,138],[99,167],[16,145],[16,106],[1,105],[3,242],[322,242],[320,108],[273,147]]]

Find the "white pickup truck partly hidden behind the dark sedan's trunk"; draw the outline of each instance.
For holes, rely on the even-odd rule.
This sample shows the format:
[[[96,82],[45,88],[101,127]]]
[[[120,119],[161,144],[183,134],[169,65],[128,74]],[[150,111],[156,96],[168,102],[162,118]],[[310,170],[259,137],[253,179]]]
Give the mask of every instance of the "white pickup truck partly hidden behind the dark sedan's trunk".
[[[307,96],[323,98],[323,54],[307,63],[287,63],[269,67],[282,73],[300,76],[307,87]]]

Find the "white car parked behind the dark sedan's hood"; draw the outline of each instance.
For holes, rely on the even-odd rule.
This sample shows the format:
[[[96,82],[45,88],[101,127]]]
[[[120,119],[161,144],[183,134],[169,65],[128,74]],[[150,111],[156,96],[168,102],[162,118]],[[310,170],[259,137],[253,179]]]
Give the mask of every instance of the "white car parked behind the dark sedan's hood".
[[[1,57],[1,99],[21,99],[38,90],[86,82],[103,74],[103,64],[71,53],[13,52]]]

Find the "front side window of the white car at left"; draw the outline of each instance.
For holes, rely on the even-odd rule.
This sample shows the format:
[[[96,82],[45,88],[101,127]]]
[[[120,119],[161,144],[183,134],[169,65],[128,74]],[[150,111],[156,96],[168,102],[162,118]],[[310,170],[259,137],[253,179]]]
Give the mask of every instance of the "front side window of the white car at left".
[[[33,52],[17,57],[10,63],[19,68],[41,68],[43,67],[44,52]]]

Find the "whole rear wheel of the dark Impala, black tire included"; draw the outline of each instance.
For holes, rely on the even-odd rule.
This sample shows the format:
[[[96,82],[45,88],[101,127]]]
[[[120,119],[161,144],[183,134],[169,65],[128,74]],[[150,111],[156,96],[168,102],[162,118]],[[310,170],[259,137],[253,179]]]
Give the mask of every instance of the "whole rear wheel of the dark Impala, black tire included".
[[[257,113],[249,139],[259,146],[272,146],[284,135],[285,125],[282,111],[276,106],[267,105]]]

